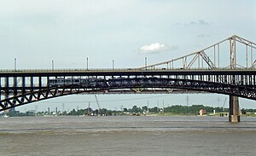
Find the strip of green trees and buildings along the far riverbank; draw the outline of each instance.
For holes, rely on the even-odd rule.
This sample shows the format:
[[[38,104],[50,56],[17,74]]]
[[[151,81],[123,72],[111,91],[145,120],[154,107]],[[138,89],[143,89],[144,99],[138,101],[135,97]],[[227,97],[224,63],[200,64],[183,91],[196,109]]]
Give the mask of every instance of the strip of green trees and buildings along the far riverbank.
[[[112,115],[143,115],[143,114],[158,114],[158,115],[198,115],[199,111],[203,109],[206,111],[207,115],[210,115],[213,113],[213,110],[215,110],[215,113],[228,113],[228,108],[223,107],[205,107],[203,105],[192,105],[192,106],[181,106],[181,105],[175,105],[171,107],[137,107],[133,106],[131,108],[123,108],[121,111],[114,111],[114,110],[108,110],[106,108],[102,108],[100,110],[96,109],[93,110],[92,108],[87,109],[79,109],[72,111],[64,111],[64,112],[38,112],[35,113],[35,111],[27,111],[26,113],[20,113],[19,111],[15,111],[15,109],[10,109],[9,115],[10,117],[17,117],[17,116],[45,116],[45,115],[51,115],[51,116],[112,116]],[[247,116],[256,116],[256,109],[241,109],[242,114],[246,114]]]

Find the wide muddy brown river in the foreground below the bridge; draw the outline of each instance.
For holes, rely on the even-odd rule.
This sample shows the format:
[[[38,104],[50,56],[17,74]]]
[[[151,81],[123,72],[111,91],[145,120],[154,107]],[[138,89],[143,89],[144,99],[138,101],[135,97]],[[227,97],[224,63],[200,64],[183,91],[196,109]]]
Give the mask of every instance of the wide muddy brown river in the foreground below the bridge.
[[[256,118],[0,118],[0,155],[255,155]]]

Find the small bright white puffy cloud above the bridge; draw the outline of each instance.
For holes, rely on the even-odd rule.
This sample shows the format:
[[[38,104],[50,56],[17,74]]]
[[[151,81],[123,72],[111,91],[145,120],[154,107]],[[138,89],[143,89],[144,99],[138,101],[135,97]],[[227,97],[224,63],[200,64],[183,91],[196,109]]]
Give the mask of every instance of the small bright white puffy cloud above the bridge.
[[[143,45],[139,49],[139,53],[140,54],[153,54],[153,53],[160,53],[162,51],[174,50],[174,49],[177,49],[177,46],[170,47],[166,44],[152,43],[150,45]]]

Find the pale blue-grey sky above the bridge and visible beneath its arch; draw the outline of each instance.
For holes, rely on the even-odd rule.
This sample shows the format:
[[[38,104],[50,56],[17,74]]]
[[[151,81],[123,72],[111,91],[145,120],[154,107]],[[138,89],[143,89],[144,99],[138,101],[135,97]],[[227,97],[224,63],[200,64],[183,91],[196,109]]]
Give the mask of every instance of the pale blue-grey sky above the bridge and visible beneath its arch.
[[[168,61],[204,49],[236,34],[256,41],[255,0],[0,0],[0,69],[130,68]],[[99,101],[147,103],[152,99],[185,104],[187,95],[99,95]],[[216,106],[224,95],[189,95],[190,101]],[[202,98],[203,97],[203,98]],[[72,95],[20,109],[55,107],[61,101],[95,101]],[[55,104],[50,105],[51,102]],[[153,102],[154,101],[154,102]],[[171,102],[172,101],[172,102]],[[102,102],[113,109],[120,102]],[[160,102],[161,103],[161,102]],[[243,104],[242,104],[243,103]],[[255,101],[241,100],[243,107]],[[67,107],[74,107],[67,104]],[[75,106],[77,107],[77,106]]]

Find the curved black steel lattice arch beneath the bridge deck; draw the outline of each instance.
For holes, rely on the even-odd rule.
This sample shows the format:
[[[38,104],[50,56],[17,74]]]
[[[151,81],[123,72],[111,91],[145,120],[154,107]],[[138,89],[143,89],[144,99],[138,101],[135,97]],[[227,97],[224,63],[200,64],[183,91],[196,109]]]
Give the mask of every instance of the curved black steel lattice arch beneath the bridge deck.
[[[211,93],[236,95],[238,97],[256,100],[253,86],[221,84],[209,81],[179,79],[179,78],[116,78],[106,80],[106,84],[84,86],[83,84],[55,85],[41,87],[38,90],[26,90],[20,94],[1,100],[0,111],[19,107],[36,101],[44,101],[64,95],[90,93],[102,90],[127,90],[127,89],[182,89],[207,91]]]

